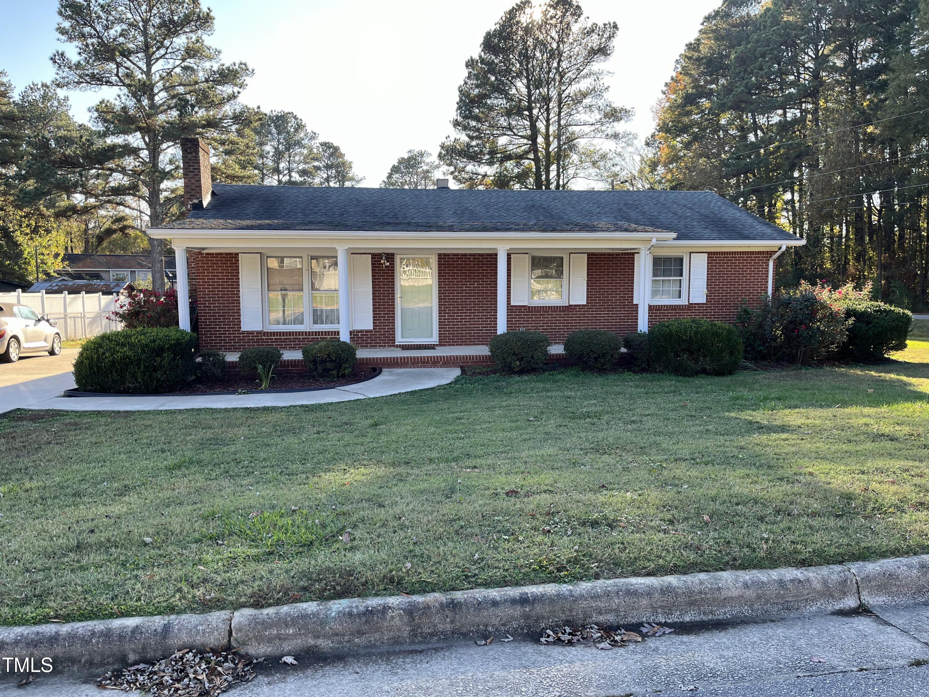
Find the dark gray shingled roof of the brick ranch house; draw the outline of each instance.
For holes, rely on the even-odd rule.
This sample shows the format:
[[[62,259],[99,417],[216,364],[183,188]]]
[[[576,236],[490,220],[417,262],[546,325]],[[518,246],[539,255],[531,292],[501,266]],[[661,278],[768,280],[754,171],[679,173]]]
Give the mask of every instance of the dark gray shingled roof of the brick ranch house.
[[[499,191],[214,184],[183,230],[672,231],[681,241],[790,242],[712,191]]]

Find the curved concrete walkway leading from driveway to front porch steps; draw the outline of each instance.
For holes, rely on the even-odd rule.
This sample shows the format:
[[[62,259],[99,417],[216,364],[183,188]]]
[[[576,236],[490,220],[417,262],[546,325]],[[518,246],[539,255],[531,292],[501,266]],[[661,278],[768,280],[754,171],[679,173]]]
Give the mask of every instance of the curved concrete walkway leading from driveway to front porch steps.
[[[144,412],[164,409],[239,409],[241,407],[325,404],[331,401],[365,400],[415,389],[446,385],[461,375],[458,368],[386,368],[373,380],[343,388],[315,392],[252,392],[242,395],[190,397],[56,397],[38,401],[27,409],[61,409],[69,412]]]

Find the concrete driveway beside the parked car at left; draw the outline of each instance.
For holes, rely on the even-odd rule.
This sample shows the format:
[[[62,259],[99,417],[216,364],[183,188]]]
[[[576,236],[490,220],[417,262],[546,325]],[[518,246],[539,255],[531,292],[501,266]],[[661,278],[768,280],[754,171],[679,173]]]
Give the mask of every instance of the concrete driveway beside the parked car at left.
[[[0,414],[58,397],[74,387],[71,367],[78,349],[58,356],[26,354],[15,363],[0,363]]]

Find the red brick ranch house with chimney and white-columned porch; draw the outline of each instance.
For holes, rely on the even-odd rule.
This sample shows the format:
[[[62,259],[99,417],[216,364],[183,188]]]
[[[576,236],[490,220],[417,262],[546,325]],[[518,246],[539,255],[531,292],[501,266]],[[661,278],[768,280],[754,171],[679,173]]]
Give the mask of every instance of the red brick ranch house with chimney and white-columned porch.
[[[507,330],[559,344],[575,329],[732,322],[804,243],[710,191],[214,184],[205,144],[181,151],[188,216],[149,234],[175,248],[180,325],[194,297],[204,349],[339,337],[362,364],[461,365],[487,362]]]

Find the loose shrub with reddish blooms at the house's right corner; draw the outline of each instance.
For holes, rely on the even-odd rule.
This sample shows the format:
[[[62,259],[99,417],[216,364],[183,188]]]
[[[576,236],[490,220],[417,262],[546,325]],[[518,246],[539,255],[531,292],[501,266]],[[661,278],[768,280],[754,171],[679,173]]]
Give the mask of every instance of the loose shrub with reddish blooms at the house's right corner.
[[[844,346],[849,321],[825,284],[805,281],[781,291],[757,309],[743,305],[737,322],[750,358],[803,363],[829,356]]]

